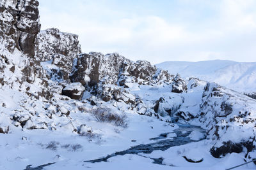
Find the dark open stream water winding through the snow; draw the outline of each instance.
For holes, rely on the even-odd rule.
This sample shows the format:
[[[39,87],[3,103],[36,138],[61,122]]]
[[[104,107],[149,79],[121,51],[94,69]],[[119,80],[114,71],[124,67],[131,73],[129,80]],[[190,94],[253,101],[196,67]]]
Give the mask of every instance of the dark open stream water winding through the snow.
[[[90,162],[90,163],[96,163],[96,162],[107,162],[107,160],[111,157],[115,157],[117,155],[125,155],[125,154],[138,154],[138,153],[152,153],[154,150],[167,150],[168,148],[172,146],[180,146],[185,145],[187,143],[193,142],[193,140],[188,138],[188,135],[191,133],[191,131],[200,131],[205,133],[204,129],[201,129],[200,127],[196,127],[193,125],[182,125],[179,124],[179,129],[176,129],[174,132],[177,134],[177,137],[175,138],[168,138],[167,136],[169,133],[160,134],[160,136],[156,138],[151,138],[152,141],[156,141],[154,143],[149,144],[141,144],[138,146],[132,146],[131,148],[121,151],[121,152],[115,152],[111,155],[108,155],[106,157],[102,157],[100,159],[94,159],[94,160],[86,160],[84,162]],[[172,132],[173,133],[173,132]],[[150,158],[152,159],[152,158]],[[152,159],[154,160],[155,164],[162,164],[163,158],[159,159]]]

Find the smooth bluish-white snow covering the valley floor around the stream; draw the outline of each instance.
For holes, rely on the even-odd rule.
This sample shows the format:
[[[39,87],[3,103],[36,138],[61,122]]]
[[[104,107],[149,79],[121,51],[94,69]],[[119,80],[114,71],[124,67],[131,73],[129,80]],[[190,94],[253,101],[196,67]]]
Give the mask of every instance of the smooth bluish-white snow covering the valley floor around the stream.
[[[175,108],[175,104],[182,102],[184,102],[183,106],[186,108],[198,103],[198,98],[202,96],[201,89],[204,87],[204,81],[201,83],[202,85],[189,89],[188,93],[185,94],[172,93],[170,87],[165,85],[147,86],[136,83],[130,84],[129,92],[135,96],[140,96],[148,108],[151,108],[154,104],[152,101],[156,101],[160,96],[166,102],[161,106],[163,107],[162,110],[165,107]],[[10,90],[2,91],[1,94],[3,96],[13,94],[5,97],[6,101],[10,101],[5,113],[13,107],[12,103],[19,103],[22,99],[22,92]],[[87,95],[87,97],[90,96]],[[55,117],[56,119],[52,120],[56,124],[60,122],[56,125],[56,131],[49,131],[48,129],[28,130],[11,126],[8,134],[0,134],[2,153],[0,155],[0,169],[25,169],[29,165],[37,167],[49,163],[54,164],[45,166],[44,169],[170,169],[170,166],[172,169],[227,169],[244,163],[244,153],[231,153],[222,159],[212,157],[209,150],[214,142],[209,139],[198,141],[204,138],[204,134],[196,130],[191,130],[192,132],[188,136],[194,142],[186,145],[174,146],[165,151],[159,150],[148,154],[117,155],[109,158],[107,162],[84,162],[106,157],[111,153],[126,150],[131,146],[152,143],[154,141],[150,138],[156,138],[163,133],[170,133],[166,138],[175,138],[174,130],[179,127],[177,124],[160,121],[155,117],[138,115],[135,111],[129,110],[127,104],[123,101],[114,103],[112,101],[102,101],[100,106],[107,106],[116,113],[119,113],[116,108],[123,110],[127,115],[127,127],[116,127],[113,124],[97,122],[90,113],[90,109],[95,106],[88,103],[87,97],[84,95],[82,101],[69,99],[68,101],[59,102],[63,106],[67,106],[67,104],[72,106],[76,103],[76,106],[86,108],[88,111],[79,111],[74,106],[68,117],[70,117],[75,127],[86,124],[86,127],[92,129],[92,135],[83,136],[72,132],[73,127],[66,125],[68,122],[63,117]],[[185,99],[185,101],[182,101],[182,99]],[[166,106],[166,104],[169,104],[169,106]],[[33,108],[30,109],[33,110]],[[70,110],[70,108],[68,109]],[[195,106],[194,109],[198,110],[199,108]],[[191,163],[184,157],[195,161],[202,160],[202,162]],[[154,160],[152,159],[159,158],[163,158],[163,165],[153,164]],[[253,163],[250,163],[238,169],[255,169],[255,167]]]

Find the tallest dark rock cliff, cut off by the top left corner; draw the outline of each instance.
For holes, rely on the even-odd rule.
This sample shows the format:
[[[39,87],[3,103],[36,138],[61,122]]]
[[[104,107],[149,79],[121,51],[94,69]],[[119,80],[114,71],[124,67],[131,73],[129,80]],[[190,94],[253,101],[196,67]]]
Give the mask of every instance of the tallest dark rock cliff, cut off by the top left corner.
[[[38,5],[36,0],[1,1],[0,37],[9,52],[18,48],[30,57],[35,55],[35,38],[41,27]]]

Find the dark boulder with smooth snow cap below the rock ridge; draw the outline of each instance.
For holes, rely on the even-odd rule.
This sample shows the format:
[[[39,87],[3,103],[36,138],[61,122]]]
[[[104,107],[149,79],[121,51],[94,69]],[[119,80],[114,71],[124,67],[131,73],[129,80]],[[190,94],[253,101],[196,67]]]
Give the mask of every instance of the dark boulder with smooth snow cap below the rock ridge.
[[[84,90],[85,88],[81,83],[70,83],[62,90],[62,95],[80,100],[83,97]]]

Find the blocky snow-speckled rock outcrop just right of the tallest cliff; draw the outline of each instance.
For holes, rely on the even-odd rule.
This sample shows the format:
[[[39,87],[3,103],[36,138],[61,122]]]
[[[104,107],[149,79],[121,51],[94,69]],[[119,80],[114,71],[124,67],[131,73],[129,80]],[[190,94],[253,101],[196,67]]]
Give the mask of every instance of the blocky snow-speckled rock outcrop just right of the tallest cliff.
[[[53,80],[68,80],[72,63],[77,54],[81,53],[78,36],[58,29],[41,31],[35,41],[36,60],[49,61],[54,67],[49,68]]]

